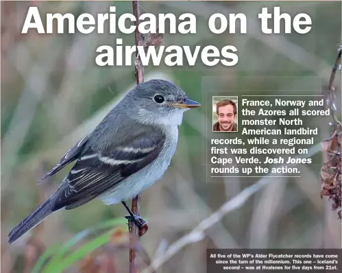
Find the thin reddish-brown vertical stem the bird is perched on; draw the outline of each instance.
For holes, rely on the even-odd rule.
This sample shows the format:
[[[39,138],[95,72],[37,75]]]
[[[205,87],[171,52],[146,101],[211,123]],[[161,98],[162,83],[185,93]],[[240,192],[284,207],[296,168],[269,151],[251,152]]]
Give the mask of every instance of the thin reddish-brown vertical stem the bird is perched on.
[[[138,31],[138,25],[139,25],[139,3],[138,1],[132,1],[133,5],[133,14],[136,18],[136,30],[135,30],[135,43],[136,47],[140,45],[141,41],[141,34]],[[141,58],[138,56],[138,48],[136,49],[136,61],[135,61],[135,75],[136,75],[136,84],[141,84],[144,82],[144,68],[143,65],[141,65]],[[132,200],[132,212],[135,215],[139,215],[140,212],[140,200],[141,196],[137,195]],[[137,264],[137,250],[136,250],[136,241],[139,238],[139,230],[138,227],[134,224],[134,222],[129,221],[128,222],[129,230],[130,230],[130,273],[136,273],[138,272],[138,264]]]

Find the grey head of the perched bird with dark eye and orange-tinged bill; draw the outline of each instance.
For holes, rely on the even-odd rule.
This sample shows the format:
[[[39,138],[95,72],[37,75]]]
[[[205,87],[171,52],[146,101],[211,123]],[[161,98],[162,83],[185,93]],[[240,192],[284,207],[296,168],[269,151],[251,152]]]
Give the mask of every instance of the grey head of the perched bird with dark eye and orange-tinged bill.
[[[180,125],[183,113],[201,106],[190,99],[184,91],[166,80],[149,80],[138,84],[123,99],[134,119],[144,123]]]

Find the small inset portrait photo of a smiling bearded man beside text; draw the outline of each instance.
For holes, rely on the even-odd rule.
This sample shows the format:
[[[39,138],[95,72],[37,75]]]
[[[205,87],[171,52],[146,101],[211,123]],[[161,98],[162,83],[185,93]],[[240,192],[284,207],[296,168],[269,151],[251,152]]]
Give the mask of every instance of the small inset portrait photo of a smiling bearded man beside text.
[[[238,97],[212,97],[212,132],[237,132]]]

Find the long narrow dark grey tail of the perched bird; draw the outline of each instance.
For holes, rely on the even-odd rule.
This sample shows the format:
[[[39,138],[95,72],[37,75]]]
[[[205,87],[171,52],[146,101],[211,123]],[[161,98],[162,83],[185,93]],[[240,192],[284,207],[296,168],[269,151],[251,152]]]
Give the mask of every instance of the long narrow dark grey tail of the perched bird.
[[[53,199],[49,198],[42,203],[36,211],[28,215],[25,219],[21,220],[8,234],[8,242],[12,244],[16,239],[19,239],[27,231],[37,226],[43,219],[49,216],[52,211]]]

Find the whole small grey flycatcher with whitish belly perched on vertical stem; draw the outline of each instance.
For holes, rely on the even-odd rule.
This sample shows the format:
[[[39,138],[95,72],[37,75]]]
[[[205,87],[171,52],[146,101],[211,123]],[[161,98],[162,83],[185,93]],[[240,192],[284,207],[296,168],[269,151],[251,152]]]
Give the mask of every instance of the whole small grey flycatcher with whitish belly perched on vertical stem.
[[[76,161],[60,187],[12,229],[9,243],[54,211],[75,209],[97,197],[108,205],[122,202],[141,227],[142,218],[130,211],[125,200],[164,174],[175,153],[183,113],[198,106],[171,82],[138,84],[40,180]]]

